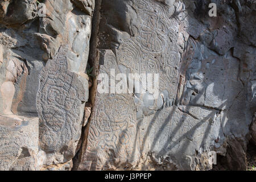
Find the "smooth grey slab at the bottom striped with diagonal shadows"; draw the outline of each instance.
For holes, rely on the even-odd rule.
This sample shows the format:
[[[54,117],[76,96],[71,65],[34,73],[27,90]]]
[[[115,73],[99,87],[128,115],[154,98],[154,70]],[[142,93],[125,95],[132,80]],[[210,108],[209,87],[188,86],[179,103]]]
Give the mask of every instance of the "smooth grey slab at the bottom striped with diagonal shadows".
[[[166,107],[145,117],[139,123],[138,140],[142,158],[149,158],[151,163],[142,160],[142,169],[160,169],[160,166],[166,170],[195,169],[203,163],[199,156],[210,153],[216,146],[214,140],[220,138],[220,143],[224,140],[220,125],[217,111],[193,106]],[[210,169],[212,164],[208,159],[205,166],[197,168]]]

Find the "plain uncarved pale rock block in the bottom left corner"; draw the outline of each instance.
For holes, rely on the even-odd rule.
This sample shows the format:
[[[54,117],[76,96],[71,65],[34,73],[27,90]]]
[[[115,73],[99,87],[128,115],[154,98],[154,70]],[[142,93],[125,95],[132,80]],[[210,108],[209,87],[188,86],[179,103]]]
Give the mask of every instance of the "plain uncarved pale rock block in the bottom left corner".
[[[0,170],[39,170],[43,165],[38,150],[38,118],[0,115]]]

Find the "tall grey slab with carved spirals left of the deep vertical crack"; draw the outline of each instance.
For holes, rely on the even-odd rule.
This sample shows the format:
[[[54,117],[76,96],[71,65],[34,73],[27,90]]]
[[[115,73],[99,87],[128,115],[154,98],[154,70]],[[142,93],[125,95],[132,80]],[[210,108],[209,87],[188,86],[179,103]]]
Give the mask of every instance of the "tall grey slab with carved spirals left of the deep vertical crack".
[[[40,149],[46,163],[64,163],[75,156],[81,135],[88,80],[68,71],[68,46],[62,46],[42,69],[37,96]],[[56,160],[55,161],[55,156]]]

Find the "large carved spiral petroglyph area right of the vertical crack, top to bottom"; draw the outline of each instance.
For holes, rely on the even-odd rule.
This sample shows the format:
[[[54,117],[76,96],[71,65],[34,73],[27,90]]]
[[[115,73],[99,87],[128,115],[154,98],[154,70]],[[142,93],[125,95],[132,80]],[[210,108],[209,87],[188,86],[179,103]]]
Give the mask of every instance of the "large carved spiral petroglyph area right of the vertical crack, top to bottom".
[[[150,101],[147,94],[133,97],[132,94],[97,93],[88,143],[82,155],[84,162],[79,169],[106,169],[116,164],[133,166],[139,160],[137,119],[140,113],[154,114],[155,110],[170,106],[171,99],[175,98],[181,59],[177,43],[179,25],[176,20],[167,18],[165,10],[158,3],[135,3],[146,3],[145,6],[137,6],[138,22],[141,22],[139,34],[125,39],[115,49],[115,55],[110,50],[100,49],[100,63],[104,63],[100,65],[100,73],[106,73],[109,77],[110,69],[125,74],[159,73],[159,89],[163,91],[163,96]],[[140,81],[144,80],[141,78]]]

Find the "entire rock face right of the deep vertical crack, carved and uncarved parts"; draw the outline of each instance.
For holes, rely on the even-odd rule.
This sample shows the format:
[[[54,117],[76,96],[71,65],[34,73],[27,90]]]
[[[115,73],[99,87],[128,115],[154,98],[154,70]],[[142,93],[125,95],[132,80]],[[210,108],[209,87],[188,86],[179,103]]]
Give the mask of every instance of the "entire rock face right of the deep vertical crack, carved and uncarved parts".
[[[97,89],[75,169],[202,170],[216,154],[246,169],[255,5],[240,1],[238,14],[236,3],[214,2],[216,18],[208,16],[210,1],[97,3],[98,73],[158,73],[159,97]]]

